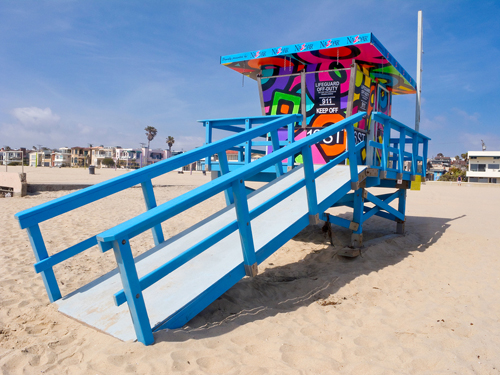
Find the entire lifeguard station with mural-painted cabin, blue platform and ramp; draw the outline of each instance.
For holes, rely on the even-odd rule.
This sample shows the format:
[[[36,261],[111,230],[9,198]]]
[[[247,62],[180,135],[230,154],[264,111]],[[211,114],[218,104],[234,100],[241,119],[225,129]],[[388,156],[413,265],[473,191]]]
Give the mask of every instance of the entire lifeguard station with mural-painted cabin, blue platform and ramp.
[[[241,278],[257,275],[262,261],[310,223],[352,230],[346,255],[356,255],[373,215],[403,233],[406,190],[419,189],[425,176],[429,138],[392,119],[393,95],[415,93],[415,82],[372,34],[224,56],[221,63],[257,81],[262,116],[203,120],[203,147],[16,214],[35,271],[61,312],[149,345],[154,331],[183,326]],[[234,134],[212,142],[215,129]],[[238,161],[228,161],[230,149]],[[157,206],[151,179],[202,158],[217,178]],[[249,193],[245,181],[268,183]],[[146,212],[49,255],[40,222],[137,184]],[[376,195],[369,187],[394,191]],[[162,222],[221,192],[227,207],[164,238]],[[339,205],[353,209],[352,220],[326,213]],[[155,247],[134,259],[129,240],[147,230]],[[117,269],[62,297],[53,267],[96,244],[113,250]]]

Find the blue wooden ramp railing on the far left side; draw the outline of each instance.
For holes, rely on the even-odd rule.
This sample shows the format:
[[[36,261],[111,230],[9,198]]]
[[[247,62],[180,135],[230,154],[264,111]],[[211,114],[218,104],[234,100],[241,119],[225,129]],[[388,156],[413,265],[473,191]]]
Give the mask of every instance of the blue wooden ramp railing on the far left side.
[[[227,163],[225,150],[230,149],[238,144],[241,144],[249,139],[253,139],[263,134],[271,134],[274,142],[278,140],[277,130],[288,124],[301,121],[300,115],[283,115],[283,116],[259,116],[247,117],[238,119],[222,119],[218,120],[219,124],[240,124],[245,121],[252,121],[254,124],[262,124],[244,133],[235,134],[209,145],[188,151],[186,153],[174,156],[167,160],[163,160],[156,164],[126,173],[122,176],[115,177],[111,180],[101,182],[94,186],[70,193],[63,197],[54,199],[50,202],[43,203],[36,207],[24,210],[17,213],[15,216],[19,221],[21,229],[26,229],[31,242],[33,252],[35,254],[36,263],[35,271],[41,273],[45,289],[51,302],[61,298],[61,291],[54,275],[53,267],[91,247],[97,245],[96,236],[87,238],[84,241],[70,246],[65,250],[49,256],[45,241],[43,240],[39,224],[46,220],[52,219],[58,215],[72,211],[76,208],[85,206],[99,199],[105,198],[127,188],[141,184],[146,209],[150,210],[156,207],[156,199],[151,180],[165,173],[183,167],[187,164],[196,162],[206,156],[219,154],[220,160]],[[276,170],[283,173],[281,161],[276,161]],[[155,245],[164,241],[161,225],[151,227]]]

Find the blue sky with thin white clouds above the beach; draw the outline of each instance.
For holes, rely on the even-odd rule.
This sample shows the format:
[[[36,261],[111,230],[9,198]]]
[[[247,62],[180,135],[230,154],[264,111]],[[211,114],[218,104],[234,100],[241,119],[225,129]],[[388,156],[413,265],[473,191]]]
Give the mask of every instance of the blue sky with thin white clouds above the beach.
[[[500,150],[499,1],[2,1],[0,146],[188,150],[199,119],[260,115],[257,83],[221,55],[373,32],[416,78],[430,156]],[[415,95],[393,117],[414,125]]]

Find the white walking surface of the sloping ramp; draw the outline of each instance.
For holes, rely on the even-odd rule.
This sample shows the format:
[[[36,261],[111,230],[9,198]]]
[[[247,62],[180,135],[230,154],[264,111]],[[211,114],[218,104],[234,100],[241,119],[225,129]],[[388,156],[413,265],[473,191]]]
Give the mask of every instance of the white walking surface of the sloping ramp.
[[[358,167],[358,173],[365,166]],[[304,169],[297,168],[249,195],[250,210],[304,178]],[[336,166],[316,179],[318,203],[350,181],[349,168]],[[308,214],[305,187],[271,207],[252,220],[256,252]],[[172,237],[136,258],[139,277],[196,245],[199,241],[236,220],[233,206],[203,220],[194,227]],[[193,301],[243,262],[238,231],[233,232],[206,251],[179,267],[156,284],[144,290],[144,300],[151,327]],[[114,270],[75,292],[56,301],[59,311],[123,341],[135,340],[136,335],[127,304],[116,306],[113,295],[122,283]]]

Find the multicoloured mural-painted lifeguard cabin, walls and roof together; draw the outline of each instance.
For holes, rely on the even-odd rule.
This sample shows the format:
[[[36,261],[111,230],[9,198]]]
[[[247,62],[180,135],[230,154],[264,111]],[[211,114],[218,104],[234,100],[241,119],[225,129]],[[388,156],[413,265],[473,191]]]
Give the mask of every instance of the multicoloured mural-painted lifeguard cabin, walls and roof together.
[[[390,115],[392,94],[415,92],[414,80],[373,34],[221,58],[222,64],[260,82],[263,111],[267,115],[302,113],[302,98],[305,99],[306,126],[295,128],[295,140],[346,117],[353,62],[357,70],[350,114],[360,111],[368,114],[368,120],[365,118],[356,124],[361,130],[355,131],[356,139],[361,142],[370,129],[369,115],[375,108]],[[303,87],[305,93],[302,93]],[[383,128],[376,126],[376,138],[381,140]],[[287,139],[286,131],[278,133],[280,140]],[[313,147],[314,163],[325,164],[344,152],[345,139],[344,132],[339,132]],[[366,158],[365,150],[362,158]],[[301,155],[295,160],[300,162]]]

